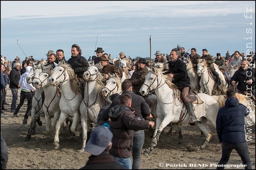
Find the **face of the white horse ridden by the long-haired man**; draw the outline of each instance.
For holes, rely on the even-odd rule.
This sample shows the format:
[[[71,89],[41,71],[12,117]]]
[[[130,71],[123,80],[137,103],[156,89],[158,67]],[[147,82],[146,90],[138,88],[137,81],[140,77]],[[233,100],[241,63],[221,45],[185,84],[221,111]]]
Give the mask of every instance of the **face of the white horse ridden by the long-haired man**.
[[[59,83],[63,83],[66,78],[65,75],[65,69],[61,66],[56,66],[53,68],[52,76],[49,77],[50,85],[56,86]]]

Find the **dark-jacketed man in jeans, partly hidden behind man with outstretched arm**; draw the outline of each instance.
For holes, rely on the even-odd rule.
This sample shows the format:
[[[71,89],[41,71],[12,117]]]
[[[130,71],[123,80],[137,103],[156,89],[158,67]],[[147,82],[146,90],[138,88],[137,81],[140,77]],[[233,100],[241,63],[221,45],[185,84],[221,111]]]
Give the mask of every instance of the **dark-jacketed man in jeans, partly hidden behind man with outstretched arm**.
[[[130,94],[132,96],[132,108],[135,110],[133,114],[135,115],[135,119],[144,120],[144,118],[149,119],[153,116],[151,115],[151,109],[149,108],[148,103],[146,103],[145,99],[133,93],[132,83],[129,80],[124,80],[121,84],[121,90],[123,94]],[[113,94],[114,95],[114,94]],[[103,120],[108,120],[108,112],[109,110],[120,104],[121,96],[114,99],[110,104],[108,109],[103,113]],[[133,136],[133,147],[132,147],[132,156],[133,156],[133,164],[132,169],[140,169],[140,156],[142,152],[142,148],[145,142],[145,133],[144,130],[135,130],[135,134]]]

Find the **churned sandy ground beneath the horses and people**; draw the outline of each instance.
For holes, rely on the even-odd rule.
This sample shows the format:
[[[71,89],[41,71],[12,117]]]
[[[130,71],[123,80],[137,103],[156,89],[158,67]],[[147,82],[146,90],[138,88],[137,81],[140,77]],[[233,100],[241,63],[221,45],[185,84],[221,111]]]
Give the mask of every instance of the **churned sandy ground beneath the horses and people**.
[[[20,90],[19,90],[20,94]],[[44,117],[42,126],[37,126],[36,135],[31,140],[25,142],[25,136],[30,125],[31,117],[28,118],[28,124],[22,125],[27,102],[21,107],[18,113],[19,117],[12,117],[11,90],[7,91],[7,103],[1,114],[1,132],[9,149],[9,160],[7,169],[79,169],[85,165],[89,153],[78,152],[82,146],[82,138],[70,140],[68,130],[64,130],[60,136],[60,146],[58,149],[53,147],[53,139],[46,134]],[[18,99],[17,104],[20,102]],[[206,148],[201,151],[199,146],[204,140],[200,135],[200,130],[194,126],[183,125],[183,140],[178,139],[178,134],[173,133],[168,136],[169,128],[162,132],[158,146],[156,146],[149,156],[142,155],[141,169],[216,169],[221,156],[219,140],[216,130],[209,125],[214,133]],[[252,161],[252,168],[255,169],[255,125],[249,127],[251,133],[248,141],[249,153]],[[66,133],[65,133],[66,132]],[[151,139],[148,131],[145,131],[145,145],[143,151],[149,147]],[[191,149],[192,148],[192,149]],[[236,168],[241,166],[242,161],[238,154],[233,151],[230,161],[231,168],[226,169],[244,169]]]

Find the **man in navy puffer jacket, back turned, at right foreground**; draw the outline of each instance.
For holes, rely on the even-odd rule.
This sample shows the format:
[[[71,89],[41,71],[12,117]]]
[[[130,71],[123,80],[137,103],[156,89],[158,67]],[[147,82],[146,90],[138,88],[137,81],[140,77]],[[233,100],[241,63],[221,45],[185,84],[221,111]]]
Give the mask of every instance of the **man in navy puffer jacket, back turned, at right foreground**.
[[[247,107],[240,104],[235,97],[235,91],[226,91],[225,106],[219,109],[216,118],[217,136],[222,146],[222,158],[217,169],[224,169],[233,149],[238,152],[245,169],[252,169],[249,149],[245,138],[245,117],[249,115]]]

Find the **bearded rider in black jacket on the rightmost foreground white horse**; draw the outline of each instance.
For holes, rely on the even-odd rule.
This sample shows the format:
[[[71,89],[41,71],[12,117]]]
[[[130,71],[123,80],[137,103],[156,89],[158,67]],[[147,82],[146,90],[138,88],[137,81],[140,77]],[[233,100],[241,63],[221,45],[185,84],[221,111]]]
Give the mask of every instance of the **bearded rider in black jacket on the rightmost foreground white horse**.
[[[172,79],[172,83],[181,90],[181,97],[187,106],[188,112],[190,113],[190,123],[194,123],[197,118],[194,114],[193,104],[190,98],[188,98],[190,78],[188,77],[186,64],[178,58],[180,53],[180,47],[172,49],[169,55],[169,70],[167,70],[167,73],[169,73],[168,76]]]

